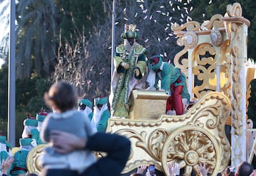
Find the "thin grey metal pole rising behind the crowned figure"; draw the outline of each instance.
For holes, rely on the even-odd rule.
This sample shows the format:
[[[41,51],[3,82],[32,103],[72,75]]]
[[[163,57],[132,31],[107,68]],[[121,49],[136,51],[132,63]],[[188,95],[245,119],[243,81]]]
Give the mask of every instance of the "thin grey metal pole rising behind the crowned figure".
[[[112,4],[112,51],[111,51],[111,80],[114,72],[114,52],[115,52],[115,0]]]

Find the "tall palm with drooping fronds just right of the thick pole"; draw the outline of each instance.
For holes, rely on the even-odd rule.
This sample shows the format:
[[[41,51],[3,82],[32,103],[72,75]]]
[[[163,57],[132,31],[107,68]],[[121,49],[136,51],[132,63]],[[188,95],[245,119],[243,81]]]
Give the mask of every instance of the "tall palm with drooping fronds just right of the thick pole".
[[[19,0],[16,10],[17,79],[50,75],[55,61],[57,11],[52,0]]]

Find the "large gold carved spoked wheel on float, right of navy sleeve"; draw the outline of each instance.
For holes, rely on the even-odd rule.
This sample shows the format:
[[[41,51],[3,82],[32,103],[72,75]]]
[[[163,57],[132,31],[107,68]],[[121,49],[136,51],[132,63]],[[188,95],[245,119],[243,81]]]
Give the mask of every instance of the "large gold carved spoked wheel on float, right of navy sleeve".
[[[191,175],[192,170],[200,175],[199,163],[206,163],[209,172],[217,175],[221,159],[215,136],[198,126],[182,126],[166,139],[162,166],[168,173],[169,163],[178,163],[184,169],[184,175]]]

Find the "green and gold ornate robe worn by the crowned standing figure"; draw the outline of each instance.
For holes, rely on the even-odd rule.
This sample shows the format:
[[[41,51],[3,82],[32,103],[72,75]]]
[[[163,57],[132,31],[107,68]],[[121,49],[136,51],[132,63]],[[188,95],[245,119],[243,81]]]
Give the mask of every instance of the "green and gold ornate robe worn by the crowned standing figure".
[[[142,89],[146,73],[146,49],[137,43],[130,52],[119,45],[114,57],[114,75],[112,79],[112,116],[125,117],[129,115],[129,96],[132,89]],[[120,64],[127,62],[129,69],[125,70]],[[134,74],[139,69],[139,76]]]

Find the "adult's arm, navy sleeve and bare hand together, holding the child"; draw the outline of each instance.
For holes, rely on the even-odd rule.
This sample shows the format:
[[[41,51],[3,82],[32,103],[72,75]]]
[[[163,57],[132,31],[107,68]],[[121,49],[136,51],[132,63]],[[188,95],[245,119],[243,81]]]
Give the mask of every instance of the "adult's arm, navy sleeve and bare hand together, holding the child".
[[[53,131],[50,138],[58,153],[82,149],[107,153],[106,157],[97,160],[97,163],[82,172],[81,176],[119,176],[127,163],[131,149],[128,138],[110,133],[98,132],[85,139],[63,131]]]

